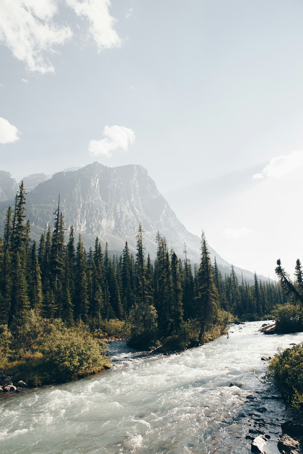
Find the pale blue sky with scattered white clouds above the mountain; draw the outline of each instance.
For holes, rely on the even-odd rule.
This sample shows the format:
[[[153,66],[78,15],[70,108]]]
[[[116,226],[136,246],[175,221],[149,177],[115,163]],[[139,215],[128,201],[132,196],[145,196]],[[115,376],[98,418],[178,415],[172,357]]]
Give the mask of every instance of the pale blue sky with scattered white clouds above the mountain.
[[[2,0],[0,168],[141,164],[225,260],[292,275],[302,19],[301,0]]]

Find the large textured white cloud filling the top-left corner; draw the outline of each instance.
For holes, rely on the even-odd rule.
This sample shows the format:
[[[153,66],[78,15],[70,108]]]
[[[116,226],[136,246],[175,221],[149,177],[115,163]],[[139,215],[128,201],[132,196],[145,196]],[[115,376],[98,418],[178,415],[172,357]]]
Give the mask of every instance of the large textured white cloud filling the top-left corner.
[[[29,71],[54,72],[47,54],[72,36],[68,25],[52,18],[57,13],[55,0],[1,0],[0,41],[25,63]]]

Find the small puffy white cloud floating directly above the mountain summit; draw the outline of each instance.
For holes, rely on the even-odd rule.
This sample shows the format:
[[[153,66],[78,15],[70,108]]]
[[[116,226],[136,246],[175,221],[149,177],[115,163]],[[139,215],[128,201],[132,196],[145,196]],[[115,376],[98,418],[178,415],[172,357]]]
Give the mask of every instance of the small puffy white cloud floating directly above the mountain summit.
[[[111,152],[116,148],[122,148],[127,151],[129,144],[135,140],[134,131],[124,126],[105,126],[103,134],[106,136],[104,139],[91,140],[89,142],[90,154],[110,158]]]

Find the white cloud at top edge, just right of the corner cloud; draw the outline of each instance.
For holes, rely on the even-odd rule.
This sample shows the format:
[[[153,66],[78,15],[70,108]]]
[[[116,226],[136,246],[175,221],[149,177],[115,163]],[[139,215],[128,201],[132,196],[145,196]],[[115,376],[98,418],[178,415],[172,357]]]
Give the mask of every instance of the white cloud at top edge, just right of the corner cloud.
[[[116,20],[109,14],[109,0],[66,0],[66,3],[76,15],[88,20],[89,35],[97,44],[98,52],[121,45],[122,41],[114,30]]]

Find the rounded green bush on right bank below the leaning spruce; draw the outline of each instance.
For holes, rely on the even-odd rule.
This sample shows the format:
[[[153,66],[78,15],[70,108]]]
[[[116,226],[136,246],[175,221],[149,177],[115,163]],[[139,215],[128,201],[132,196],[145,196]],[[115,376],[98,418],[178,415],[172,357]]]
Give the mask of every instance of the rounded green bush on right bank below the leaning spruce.
[[[279,304],[273,311],[276,320],[276,331],[294,333],[303,331],[303,309],[296,304]]]

